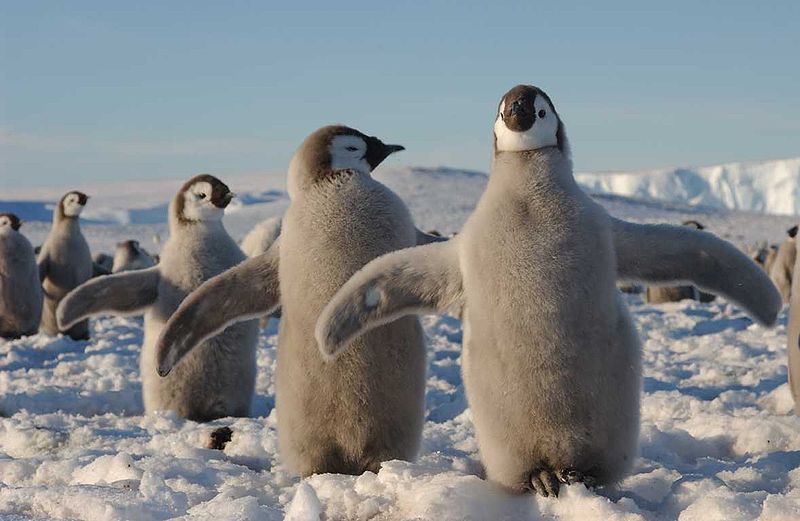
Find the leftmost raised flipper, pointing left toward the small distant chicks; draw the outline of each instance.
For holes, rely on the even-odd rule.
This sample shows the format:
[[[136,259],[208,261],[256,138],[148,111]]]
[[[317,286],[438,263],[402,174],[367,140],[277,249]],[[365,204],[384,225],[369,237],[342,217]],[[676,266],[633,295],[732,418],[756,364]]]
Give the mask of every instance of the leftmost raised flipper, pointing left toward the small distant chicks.
[[[89,279],[70,291],[58,304],[56,319],[62,331],[104,311],[128,315],[141,311],[158,296],[158,268],[127,271]]]

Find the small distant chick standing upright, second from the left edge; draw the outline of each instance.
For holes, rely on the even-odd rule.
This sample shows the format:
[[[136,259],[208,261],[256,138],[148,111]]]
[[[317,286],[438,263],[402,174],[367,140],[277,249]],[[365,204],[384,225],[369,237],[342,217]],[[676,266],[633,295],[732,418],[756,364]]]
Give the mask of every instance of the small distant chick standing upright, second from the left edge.
[[[74,340],[89,338],[89,321],[60,329],[56,322],[56,307],[64,296],[94,274],[89,245],[81,233],[80,214],[89,196],[82,192],[67,192],[53,211],[53,227],[39,252],[39,278],[44,289],[41,331],[48,335],[64,333]]]

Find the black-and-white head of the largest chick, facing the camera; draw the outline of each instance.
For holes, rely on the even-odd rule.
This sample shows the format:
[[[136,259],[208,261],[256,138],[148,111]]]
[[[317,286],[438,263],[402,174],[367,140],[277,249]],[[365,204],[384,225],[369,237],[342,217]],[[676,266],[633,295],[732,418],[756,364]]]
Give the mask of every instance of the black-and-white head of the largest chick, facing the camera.
[[[557,147],[567,153],[564,124],[550,97],[531,85],[517,85],[500,100],[494,122],[495,152]]]

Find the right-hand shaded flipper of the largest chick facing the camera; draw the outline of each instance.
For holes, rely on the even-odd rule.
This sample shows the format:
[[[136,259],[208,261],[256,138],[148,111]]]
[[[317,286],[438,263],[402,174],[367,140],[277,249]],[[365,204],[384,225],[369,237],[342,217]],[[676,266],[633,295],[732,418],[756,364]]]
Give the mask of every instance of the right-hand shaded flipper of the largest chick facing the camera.
[[[729,242],[686,226],[612,219],[612,227],[619,279],[694,284],[730,299],[761,324],[775,323],[780,293],[764,270]]]

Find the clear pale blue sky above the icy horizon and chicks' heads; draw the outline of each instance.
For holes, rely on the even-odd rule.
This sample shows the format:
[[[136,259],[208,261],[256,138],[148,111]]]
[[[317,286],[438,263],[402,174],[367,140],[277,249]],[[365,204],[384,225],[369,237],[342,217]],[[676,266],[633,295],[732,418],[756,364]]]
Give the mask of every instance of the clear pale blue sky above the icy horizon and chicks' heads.
[[[0,191],[285,170],[331,122],[485,171],[517,83],[579,170],[800,155],[800,2],[646,4],[2,2]]]

